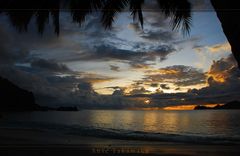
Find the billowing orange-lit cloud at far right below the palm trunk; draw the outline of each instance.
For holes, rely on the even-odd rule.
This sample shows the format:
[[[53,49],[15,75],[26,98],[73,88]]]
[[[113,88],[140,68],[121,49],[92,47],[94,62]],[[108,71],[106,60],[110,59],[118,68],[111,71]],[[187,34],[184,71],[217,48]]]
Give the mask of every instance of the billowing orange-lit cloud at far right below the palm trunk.
[[[240,71],[233,56],[214,61],[208,72],[208,87],[192,92],[200,95],[229,95],[240,97]]]

